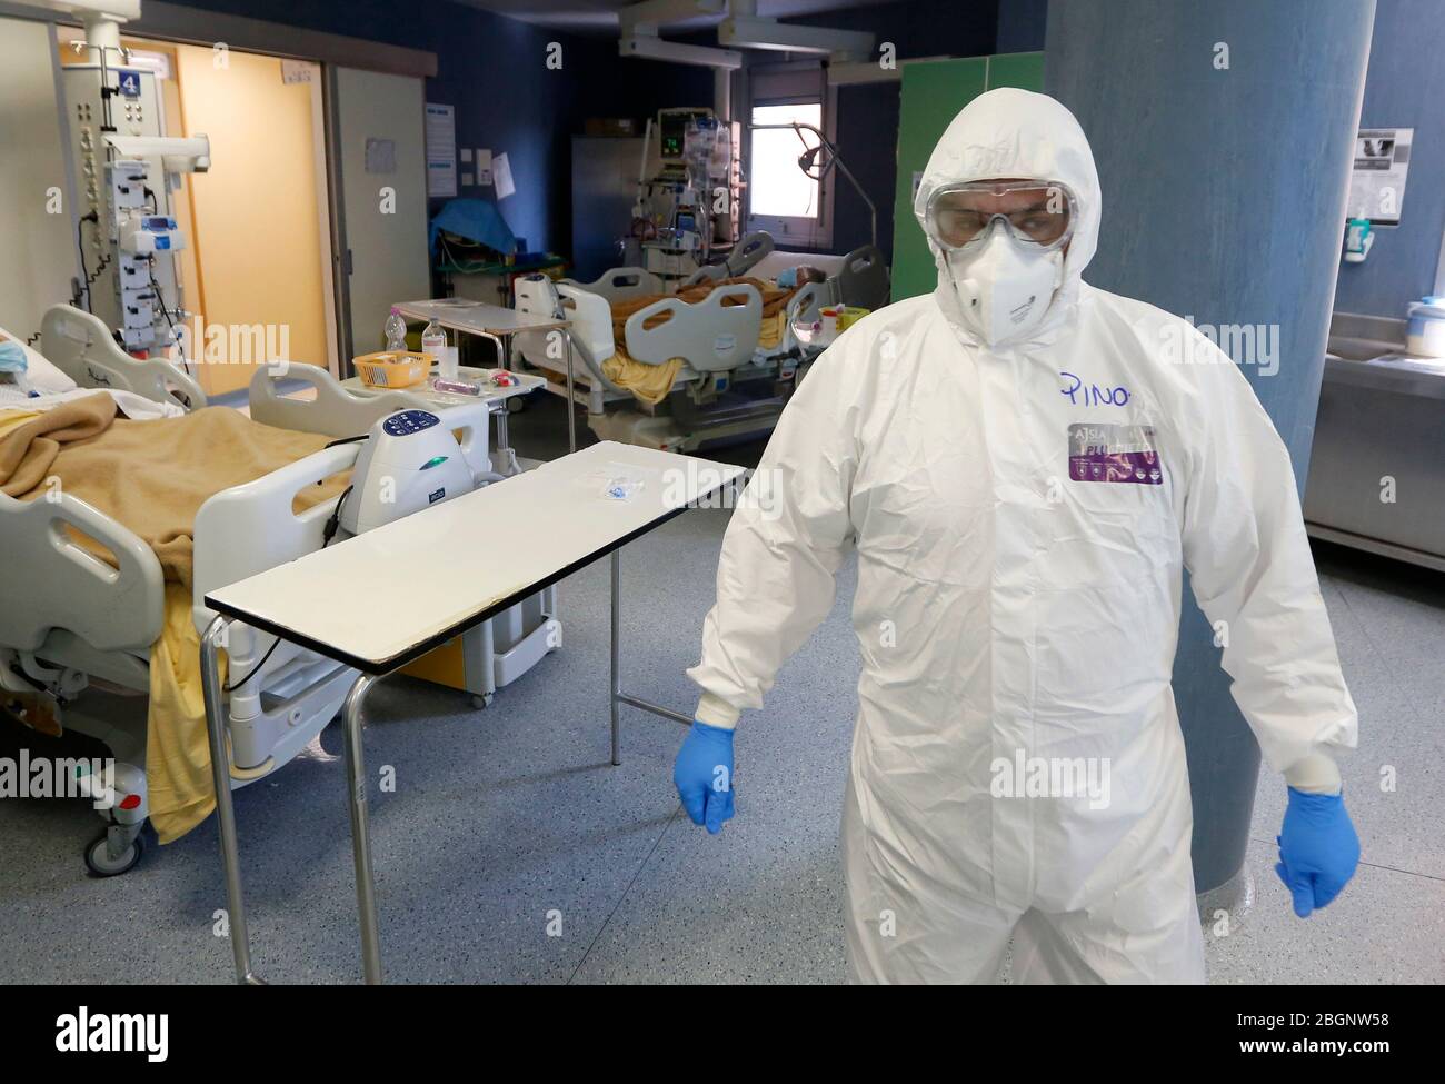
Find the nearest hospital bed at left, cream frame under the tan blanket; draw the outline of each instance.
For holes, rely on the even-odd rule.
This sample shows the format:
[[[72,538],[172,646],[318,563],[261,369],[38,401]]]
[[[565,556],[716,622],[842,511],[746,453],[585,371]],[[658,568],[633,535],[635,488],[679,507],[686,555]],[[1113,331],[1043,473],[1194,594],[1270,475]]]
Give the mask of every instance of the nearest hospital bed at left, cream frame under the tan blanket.
[[[137,361],[114,345],[100,319],[68,305],[46,314],[40,353],[81,387],[129,390],[188,408],[205,405],[189,374],[169,361]],[[283,380],[311,384],[309,397],[282,395]],[[486,403],[439,410],[407,392],[355,396],[325,370],[305,364],[262,367],[250,386],[254,421],[338,438],[366,434],[376,419],[407,408],[439,413],[460,435],[474,484],[499,478],[490,473]],[[327,447],[215,493],[201,506],[194,525],[192,619],[198,632],[215,616],[204,604],[207,591],[322,548],[325,526],[344,494],[303,512],[293,510],[293,499],[305,487],[348,471],[360,447]],[[108,549],[114,567],[78,545],[72,530]],[[133,694],[149,691],[150,650],[165,620],[160,562],[126,526],[64,491],[53,500],[29,502],[0,494],[0,552],[6,555],[0,565],[0,689],[45,698],[56,717],[64,713],[65,726],[110,747],[116,760],[110,793],[91,793],[104,789],[103,780],[81,788],[98,799],[107,821],[85,848],[85,861],[100,876],[124,873],[140,857],[149,811],[144,715],[139,723],[121,718],[124,713],[101,720],[71,705],[92,679]],[[555,611],[551,595],[540,601]],[[538,600],[526,606],[536,608]],[[507,637],[510,623],[520,621],[522,607],[517,610],[499,616],[497,674],[516,674],[517,658],[509,652],[530,658],[538,642],[520,629]],[[551,616],[540,619],[545,623]],[[532,624],[538,624],[536,616]],[[545,635],[546,629],[526,632]],[[490,637],[487,643],[493,645]],[[335,717],[355,674],[241,623],[231,626],[225,650],[233,679],[251,675],[254,668],[227,698],[231,778],[238,788],[264,779],[305,749]],[[484,691],[484,702],[491,688]]]

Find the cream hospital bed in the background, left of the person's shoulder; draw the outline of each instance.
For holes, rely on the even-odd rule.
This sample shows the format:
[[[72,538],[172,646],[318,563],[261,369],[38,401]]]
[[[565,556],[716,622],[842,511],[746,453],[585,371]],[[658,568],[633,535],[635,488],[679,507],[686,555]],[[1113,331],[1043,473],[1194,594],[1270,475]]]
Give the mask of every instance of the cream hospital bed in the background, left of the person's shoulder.
[[[815,257],[776,253],[766,233],[744,237],[720,264],[699,267],[683,289],[722,282],[766,266],[798,266],[832,260],[825,282],[808,283],[786,302],[780,334],[764,345],[763,301],[750,283],[715,286],[696,304],[660,296],[633,312],[618,344],[613,305],[662,295],[663,283],[642,267],[617,267],[594,282],[552,282],[535,275],[516,283],[516,306],[535,318],[565,317],[571,324],[571,369],[575,397],[587,406],[587,421],[600,439],[623,441],[666,451],[695,451],[766,432],[773,428],[796,380],[821,350],[799,338],[795,324],[818,319],[828,305],[881,308],[887,304],[889,270],[883,253],[864,246],[847,256]],[[542,334],[520,334],[522,360],[555,377],[565,377],[568,358]],[[647,403],[608,379],[604,363],[618,345],[634,361],[683,364],[665,397]],[[565,396],[565,384],[549,380]]]

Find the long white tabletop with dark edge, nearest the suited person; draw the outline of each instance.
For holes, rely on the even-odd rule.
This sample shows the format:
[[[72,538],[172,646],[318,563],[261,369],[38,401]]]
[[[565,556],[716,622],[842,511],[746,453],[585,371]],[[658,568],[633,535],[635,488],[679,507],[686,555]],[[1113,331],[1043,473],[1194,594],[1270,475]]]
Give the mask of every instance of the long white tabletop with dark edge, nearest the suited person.
[[[205,604],[389,674],[741,474],[604,441],[211,591]],[[617,477],[642,489],[627,500],[603,496]]]

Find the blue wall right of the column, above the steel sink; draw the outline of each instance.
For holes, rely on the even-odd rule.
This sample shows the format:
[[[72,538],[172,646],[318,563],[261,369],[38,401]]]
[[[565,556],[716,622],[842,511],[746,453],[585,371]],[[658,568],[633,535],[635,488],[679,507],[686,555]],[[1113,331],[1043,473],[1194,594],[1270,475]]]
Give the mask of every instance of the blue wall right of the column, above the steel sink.
[[[1439,0],[1379,0],[1360,127],[1413,127],[1400,224],[1364,263],[1341,263],[1337,312],[1405,317],[1435,286],[1445,231],[1445,14]]]

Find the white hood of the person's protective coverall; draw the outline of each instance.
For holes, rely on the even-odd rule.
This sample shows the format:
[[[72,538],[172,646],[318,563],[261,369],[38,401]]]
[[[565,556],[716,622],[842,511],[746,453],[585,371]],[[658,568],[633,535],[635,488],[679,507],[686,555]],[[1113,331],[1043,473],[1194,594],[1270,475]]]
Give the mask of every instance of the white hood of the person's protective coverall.
[[[1078,198],[1078,224],[1064,259],[1064,282],[1049,312],[1029,334],[1030,340],[1045,338],[1069,317],[1078,301],[1079,276],[1098,246],[1101,201],[1094,152],[1074,114],[1046,94],[1013,88],[981,94],[954,117],[928,159],[913,199],[919,228],[925,227],[928,201],[939,188],[997,178],[1062,181]],[[965,340],[977,341],[961,319],[958,296],[945,266],[946,256],[932,240],[929,247],[938,267],[933,296],[944,317]]]

